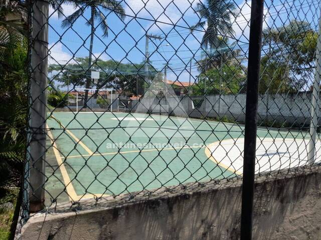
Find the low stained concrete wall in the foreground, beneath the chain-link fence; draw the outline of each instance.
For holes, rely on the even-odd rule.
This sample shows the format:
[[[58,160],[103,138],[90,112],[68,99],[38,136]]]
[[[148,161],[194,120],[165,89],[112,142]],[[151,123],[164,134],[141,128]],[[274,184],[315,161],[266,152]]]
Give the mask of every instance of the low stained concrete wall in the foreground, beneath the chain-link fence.
[[[239,239],[241,179],[37,214],[22,239]],[[321,167],[256,178],[253,239],[321,239]]]

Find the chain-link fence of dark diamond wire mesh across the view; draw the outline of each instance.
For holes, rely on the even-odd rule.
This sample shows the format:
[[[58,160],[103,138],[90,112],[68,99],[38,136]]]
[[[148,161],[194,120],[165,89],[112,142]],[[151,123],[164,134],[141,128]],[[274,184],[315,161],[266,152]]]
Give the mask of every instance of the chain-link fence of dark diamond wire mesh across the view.
[[[264,2],[259,69],[251,1],[32,1],[24,217],[242,177],[253,102],[256,173],[319,162],[319,7]]]

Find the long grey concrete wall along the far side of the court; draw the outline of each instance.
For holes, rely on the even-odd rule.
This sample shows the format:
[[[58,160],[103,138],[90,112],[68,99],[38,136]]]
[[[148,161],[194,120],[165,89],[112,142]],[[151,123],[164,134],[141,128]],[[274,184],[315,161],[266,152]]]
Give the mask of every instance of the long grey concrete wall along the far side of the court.
[[[174,115],[192,117],[222,117],[227,116],[236,121],[245,121],[246,94],[237,95],[208,95],[204,96],[175,96],[167,97],[168,105],[175,109]],[[304,124],[310,121],[310,92],[299,92],[296,94],[271,94],[260,95],[258,102],[259,120],[277,120],[279,122]],[[202,103],[196,106],[196,101]],[[194,101],[194,108],[192,101]],[[141,103],[148,108],[147,98]],[[163,103],[162,103],[163,102]],[[164,100],[161,101],[164,106]],[[146,113],[146,107],[136,109],[136,101],[132,102],[132,111]],[[157,110],[155,104],[151,108]],[[169,111],[171,108],[169,108]],[[170,111],[171,112],[171,111]],[[321,121],[320,121],[321,122]]]

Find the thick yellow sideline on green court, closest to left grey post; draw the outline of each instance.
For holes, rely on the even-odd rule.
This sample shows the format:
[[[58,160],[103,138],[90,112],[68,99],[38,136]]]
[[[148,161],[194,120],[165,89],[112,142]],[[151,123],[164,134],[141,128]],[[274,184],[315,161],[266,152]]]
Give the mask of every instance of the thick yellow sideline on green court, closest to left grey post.
[[[48,127],[48,124],[47,124],[47,128],[50,129]],[[51,133],[51,130],[48,130],[48,135],[49,135],[49,138],[51,140],[52,147],[54,149],[54,153],[55,153],[55,156],[56,156],[56,160],[58,162],[59,169],[60,169],[60,172],[62,174],[62,178],[63,178],[65,186],[66,186],[68,197],[69,197],[70,200],[76,200],[78,198],[77,193],[75,191],[74,186],[72,185],[72,182],[70,180],[70,177],[69,177],[67,169],[66,169],[66,167],[64,165],[64,162],[61,160],[62,157],[60,156],[59,150],[57,148],[56,142],[54,141],[54,137],[53,137],[53,135]]]

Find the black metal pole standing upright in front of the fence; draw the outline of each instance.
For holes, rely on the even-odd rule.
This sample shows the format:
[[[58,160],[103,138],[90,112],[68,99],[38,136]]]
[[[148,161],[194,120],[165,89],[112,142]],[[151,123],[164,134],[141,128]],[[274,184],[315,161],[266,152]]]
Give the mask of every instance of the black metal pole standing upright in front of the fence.
[[[246,90],[241,240],[252,239],[253,194],[264,0],[252,0]]]

